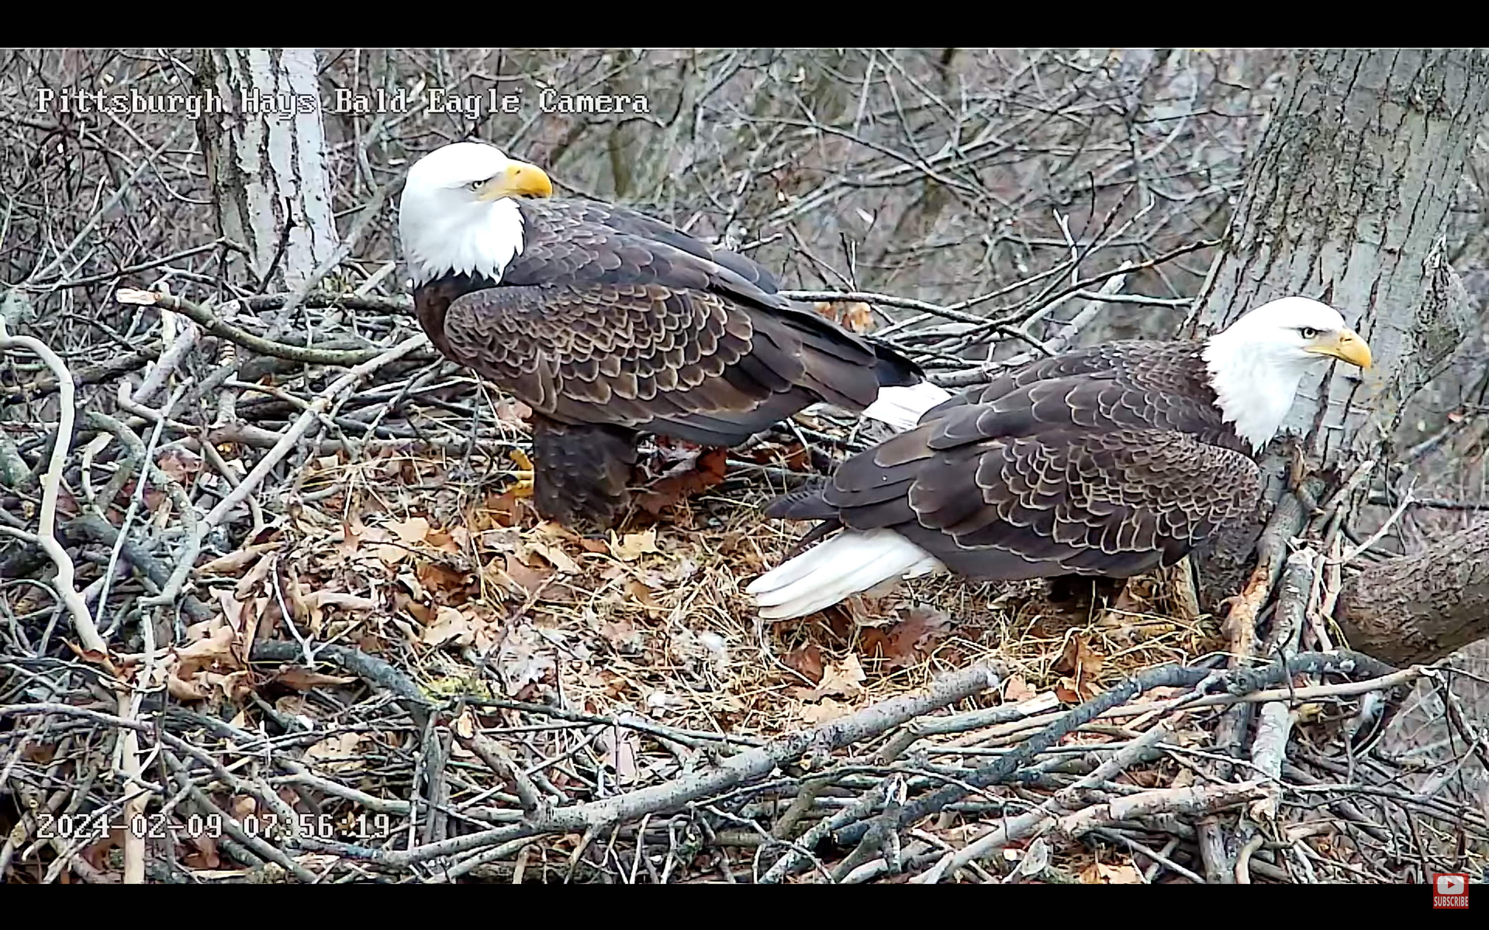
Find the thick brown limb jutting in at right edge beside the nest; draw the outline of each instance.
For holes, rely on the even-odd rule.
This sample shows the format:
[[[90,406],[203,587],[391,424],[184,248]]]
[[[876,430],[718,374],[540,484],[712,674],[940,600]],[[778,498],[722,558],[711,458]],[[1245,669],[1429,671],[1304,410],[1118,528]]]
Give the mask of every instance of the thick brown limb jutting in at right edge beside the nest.
[[[1435,662],[1489,635],[1489,519],[1345,582],[1334,619],[1392,665]]]

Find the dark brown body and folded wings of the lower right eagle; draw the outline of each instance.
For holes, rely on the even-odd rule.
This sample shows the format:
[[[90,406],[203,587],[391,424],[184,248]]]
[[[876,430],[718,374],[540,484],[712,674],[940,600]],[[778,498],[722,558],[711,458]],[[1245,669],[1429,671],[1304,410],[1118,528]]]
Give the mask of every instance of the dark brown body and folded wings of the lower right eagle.
[[[892,527],[953,571],[1017,579],[1138,574],[1257,506],[1260,472],[1193,347],[1093,359],[948,400],[844,461],[814,500],[774,512]]]

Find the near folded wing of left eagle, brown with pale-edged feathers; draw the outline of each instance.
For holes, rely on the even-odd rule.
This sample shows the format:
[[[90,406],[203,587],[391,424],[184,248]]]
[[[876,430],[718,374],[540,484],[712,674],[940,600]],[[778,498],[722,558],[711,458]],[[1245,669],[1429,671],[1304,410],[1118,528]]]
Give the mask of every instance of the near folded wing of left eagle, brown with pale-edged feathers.
[[[478,290],[450,305],[442,339],[453,359],[554,420],[713,445],[816,400],[862,406],[879,390],[871,366],[846,376],[777,320],[660,284]]]

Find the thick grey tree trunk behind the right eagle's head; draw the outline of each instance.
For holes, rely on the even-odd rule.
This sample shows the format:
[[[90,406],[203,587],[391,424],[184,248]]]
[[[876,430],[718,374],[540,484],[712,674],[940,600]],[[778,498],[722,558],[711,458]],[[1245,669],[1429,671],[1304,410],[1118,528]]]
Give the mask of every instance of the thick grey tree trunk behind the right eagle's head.
[[[1489,54],[1306,51],[1278,100],[1231,219],[1230,243],[1200,295],[1199,323],[1224,329],[1275,298],[1325,301],[1365,336],[1376,366],[1304,379],[1284,432],[1331,482],[1389,461],[1403,406],[1476,326],[1452,299],[1443,254],[1452,192],[1489,112]],[[1461,292],[1458,292],[1461,293]],[[1263,460],[1269,507],[1288,455]],[[1197,554],[1206,601],[1234,594],[1263,516]]]

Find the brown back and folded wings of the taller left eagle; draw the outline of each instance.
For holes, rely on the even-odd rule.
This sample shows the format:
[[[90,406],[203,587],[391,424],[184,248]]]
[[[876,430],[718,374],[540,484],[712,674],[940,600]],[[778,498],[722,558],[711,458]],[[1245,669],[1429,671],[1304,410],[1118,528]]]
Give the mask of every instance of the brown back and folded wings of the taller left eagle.
[[[603,204],[521,211],[527,238],[499,284],[417,305],[441,351],[555,421],[737,445],[819,400],[861,409],[881,382],[920,378],[743,256]]]

